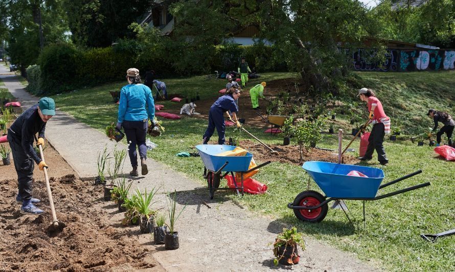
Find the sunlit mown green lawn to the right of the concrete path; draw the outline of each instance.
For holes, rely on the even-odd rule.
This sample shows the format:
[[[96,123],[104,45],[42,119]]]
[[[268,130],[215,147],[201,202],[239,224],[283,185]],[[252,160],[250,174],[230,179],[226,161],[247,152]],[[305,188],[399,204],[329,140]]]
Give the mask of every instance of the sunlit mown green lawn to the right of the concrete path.
[[[358,75],[365,80],[366,86],[380,87],[377,87],[378,96],[383,97],[383,101],[398,103],[398,101],[412,100],[413,103],[409,104],[411,106],[408,110],[410,114],[422,118],[421,122],[425,122],[422,126],[427,126],[426,122],[429,124],[431,122],[429,119],[424,119],[426,115],[418,114],[427,106],[424,103],[418,103],[419,101],[425,101],[428,106],[436,107],[437,103],[443,99],[439,99],[440,96],[433,97],[433,94],[430,94],[433,91],[442,92],[444,101],[450,97],[453,98],[450,96],[453,95],[453,92],[450,94],[450,88],[454,86],[454,72],[401,74],[366,72],[358,73]],[[256,81],[295,76],[293,73],[267,73]],[[438,85],[430,86],[425,82],[434,82]],[[123,82],[112,83],[53,97],[57,107],[61,110],[69,112],[96,129],[103,130],[107,123],[115,122],[117,119],[117,106],[113,105],[108,90],[118,90],[124,84]],[[166,84],[170,93],[185,94],[197,90],[201,99],[207,99],[218,96],[217,91],[224,86],[225,82],[215,79],[207,80],[204,77],[192,77],[166,80]],[[390,84],[390,86],[385,84]],[[415,84],[421,84],[421,87],[417,88],[414,86]],[[397,90],[393,86],[402,86],[402,89]],[[386,92],[388,90],[389,92]],[[414,93],[407,93],[410,91]],[[432,100],[435,98],[438,100]],[[165,105],[166,109],[178,107],[171,102],[160,102],[160,104]],[[401,112],[404,110],[400,110]],[[349,130],[350,127],[347,125],[349,116],[338,115],[337,119],[346,121],[346,125],[342,127]],[[411,126],[411,122],[406,124]],[[149,157],[168,165],[178,165],[175,170],[203,185],[204,180],[201,177],[203,164],[200,158],[180,158],[176,157],[175,154],[182,151],[195,152],[193,146],[201,143],[207,121],[184,116],[180,120],[164,119],[164,126],[166,132],[162,136],[151,138],[153,142],[158,144],[158,147],[149,152]],[[282,142],[282,138],[279,136],[263,134],[262,128],[247,127],[247,129],[260,136],[267,143],[278,144]],[[228,128],[226,132],[226,137],[230,135],[233,135],[232,128]],[[242,138],[246,139],[247,135],[243,134]],[[345,137],[344,145],[348,143],[349,138],[349,136]],[[318,146],[335,149],[336,141],[335,135],[326,134]],[[355,141],[351,147],[358,149],[358,144],[359,142]],[[366,204],[367,225],[365,229],[361,221],[362,206],[359,201],[347,201],[348,207],[357,219],[354,227],[349,224],[340,210],[329,210],[326,219],[319,224],[303,224],[297,220],[293,212],[286,207],[287,203],[292,202],[300,191],[306,189],[308,176],[301,166],[297,165],[275,162],[261,168],[255,177],[268,186],[267,193],[263,195],[245,195],[238,198],[232,192],[217,192],[215,200],[222,201],[225,197],[229,197],[258,214],[266,215],[271,221],[276,220],[287,225],[295,225],[307,236],[326,241],[339,249],[354,252],[361,260],[378,262],[379,266],[385,269],[403,271],[454,270],[455,237],[447,237],[438,240],[436,243],[428,243],[419,235],[422,233],[439,233],[454,228],[455,185],[453,185],[453,169],[455,165],[453,162],[438,159],[431,147],[417,147],[416,145],[408,141],[385,142],[390,163],[383,167],[386,177],[384,182],[399,178],[417,169],[422,169],[423,174],[386,187],[384,193],[427,181],[431,182],[431,186],[380,201],[368,202]],[[375,160],[366,163],[366,165],[379,167]],[[311,189],[319,190],[314,182],[311,183]]]

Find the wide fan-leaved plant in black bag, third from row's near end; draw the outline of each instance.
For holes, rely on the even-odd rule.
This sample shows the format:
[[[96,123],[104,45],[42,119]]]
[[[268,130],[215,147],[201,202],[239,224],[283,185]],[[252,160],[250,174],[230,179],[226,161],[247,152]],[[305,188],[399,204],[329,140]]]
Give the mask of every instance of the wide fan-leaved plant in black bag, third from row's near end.
[[[158,188],[159,189],[159,188]],[[137,202],[135,203],[135,209],[139,213],[140,216],[140,229],[139,231],[141,233],[152,233],[153,232],[153,227],[155,225],[154,222],[154,215],[156,213],[155,210],[152,210],[151,206],[153,203],[153,196],[155,196],[155,193],[157,192],[157,189],[155,187],[152,188],[152,190],[147,193],[147,188],[145,189],[144,194],[141,193],[139,189],[136,189],[136,196],[137,196]]]

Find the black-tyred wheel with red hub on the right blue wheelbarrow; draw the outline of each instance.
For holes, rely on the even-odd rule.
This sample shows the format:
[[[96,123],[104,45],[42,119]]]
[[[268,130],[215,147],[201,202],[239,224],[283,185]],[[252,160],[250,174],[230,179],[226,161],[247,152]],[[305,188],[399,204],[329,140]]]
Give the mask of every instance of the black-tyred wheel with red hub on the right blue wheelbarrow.
[[[325,197],[316,191],[303,191],[295,199],[293,206],[314,207],[325,201]],[[302,221],[321,222],[327,215],[329,206],[327,204],[317,209],[293,209],[295,216]]]

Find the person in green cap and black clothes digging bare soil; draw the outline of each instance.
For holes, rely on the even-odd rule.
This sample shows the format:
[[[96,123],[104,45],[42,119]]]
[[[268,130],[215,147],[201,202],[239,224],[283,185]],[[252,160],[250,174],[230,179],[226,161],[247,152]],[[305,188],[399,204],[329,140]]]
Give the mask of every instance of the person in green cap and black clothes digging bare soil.
[[[36,133],[36,145],[44,145],[44,130],[46,123],[55,115],[55,102],[50,97],[42,97],[39,103],[23,112],[8,129],[8,142],[13,154],[14,168],[17,172],[19,192],[16,203],[22,204],[20,213],[40,214],[41,209],[35,206],[39,199],[32,197],[33,161],[42,171],[48,165],[41,160],[33,149],[33,140]]]

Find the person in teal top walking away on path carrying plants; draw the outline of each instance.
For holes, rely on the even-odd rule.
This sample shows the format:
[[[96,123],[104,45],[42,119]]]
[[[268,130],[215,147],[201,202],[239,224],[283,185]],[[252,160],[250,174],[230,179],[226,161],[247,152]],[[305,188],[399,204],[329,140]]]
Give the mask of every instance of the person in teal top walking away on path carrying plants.
[[[125,130],[126,140],[129,143],[128,155],[133,167],[129,174],[137,177],[139,172],[136,145],[141,157],[142,175],[147,175],[148,173],[146,164],[147,145],[145,144],[148,128],[147,117],[151,120],[152,126],[156,126],[154,121],[155,104],[150,88],[141,84],[138,69],[128,69],[126,71],[126,80],[128,85],[123,86],[120,91],[117,129],[120,130],[123,127]]]

